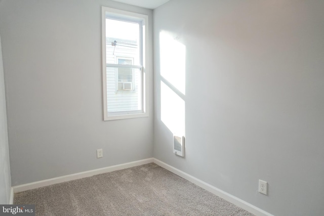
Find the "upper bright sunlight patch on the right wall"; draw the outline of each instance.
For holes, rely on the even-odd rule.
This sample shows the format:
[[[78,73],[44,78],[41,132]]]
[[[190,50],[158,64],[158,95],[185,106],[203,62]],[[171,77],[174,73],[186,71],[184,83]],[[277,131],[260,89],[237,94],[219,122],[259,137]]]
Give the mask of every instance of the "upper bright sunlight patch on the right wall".
[[[186,47],[170,33],[160,32],[160,74],[185,95]]]

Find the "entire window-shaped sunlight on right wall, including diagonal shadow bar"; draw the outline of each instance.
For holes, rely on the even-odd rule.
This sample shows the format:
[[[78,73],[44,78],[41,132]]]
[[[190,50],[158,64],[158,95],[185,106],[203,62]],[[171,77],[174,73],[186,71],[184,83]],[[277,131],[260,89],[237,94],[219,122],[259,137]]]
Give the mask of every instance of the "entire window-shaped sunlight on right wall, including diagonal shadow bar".
[[[161,121],[171,133],[185,136],[186,47],[166,31],[159,43]]]

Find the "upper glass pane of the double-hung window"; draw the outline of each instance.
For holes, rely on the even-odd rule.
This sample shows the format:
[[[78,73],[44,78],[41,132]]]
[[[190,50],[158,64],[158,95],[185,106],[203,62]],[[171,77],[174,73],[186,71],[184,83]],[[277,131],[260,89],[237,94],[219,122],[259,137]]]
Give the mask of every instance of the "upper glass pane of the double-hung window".
[[[140,64],[140,24],[136,22],[106,19],[106,63],[107,64]],[[120,59],[117,56],[133,58]]]

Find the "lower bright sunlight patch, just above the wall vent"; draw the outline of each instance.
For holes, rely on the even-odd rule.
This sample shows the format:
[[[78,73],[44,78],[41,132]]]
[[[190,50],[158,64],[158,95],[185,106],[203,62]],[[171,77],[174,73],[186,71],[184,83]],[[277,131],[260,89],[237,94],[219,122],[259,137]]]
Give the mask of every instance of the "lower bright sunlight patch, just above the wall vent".
[[[172,133],[185,135],[185,101],[161,81],[161,121]]]

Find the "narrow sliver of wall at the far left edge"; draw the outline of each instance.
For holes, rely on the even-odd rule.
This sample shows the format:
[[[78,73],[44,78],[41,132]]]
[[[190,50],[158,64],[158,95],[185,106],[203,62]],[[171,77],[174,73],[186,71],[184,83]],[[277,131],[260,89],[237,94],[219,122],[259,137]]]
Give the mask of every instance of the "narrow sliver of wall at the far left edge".
[[[6,93],[0,37],[0,204],[9,204],[10,190],[11,176],[8,147]]]

